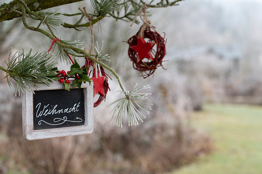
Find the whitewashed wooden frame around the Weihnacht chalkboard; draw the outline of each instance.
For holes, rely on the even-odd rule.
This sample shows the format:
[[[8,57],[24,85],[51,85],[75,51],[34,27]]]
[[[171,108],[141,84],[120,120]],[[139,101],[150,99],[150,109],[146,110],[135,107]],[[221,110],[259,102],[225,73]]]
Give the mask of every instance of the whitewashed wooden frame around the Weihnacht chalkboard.
[[[30,86],[33,90],[34,87]],[[49,87],[44,84],[39,85],[38,90],[64,89],[64,84],[54,81]],[[69,85],[69,88],[77,88]],[[45,130],[34,130],[33,127],[33,93],[25,91],[22,94],[23,108],[23,137],[27,140],[64,137],[71,135],[89,134],[94,130],[94,92],[93,82],[82,83],[85,95],[85,123],[83,126],[54,128]],[[37,91],[35,89],[34,91]]]

